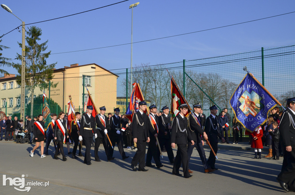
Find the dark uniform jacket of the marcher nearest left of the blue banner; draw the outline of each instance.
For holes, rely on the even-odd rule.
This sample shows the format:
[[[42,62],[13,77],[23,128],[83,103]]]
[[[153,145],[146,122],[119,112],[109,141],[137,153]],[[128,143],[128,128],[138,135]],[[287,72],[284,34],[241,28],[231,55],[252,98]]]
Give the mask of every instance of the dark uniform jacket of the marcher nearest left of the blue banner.
[[[212,125],[211,122],[212,121]],[[214,130],[215,129],[215,130]],[[218,138],[221,139],[222,135],[219,131],[218,121],[217,121],[217,115],[215,116],[215,119],[210,114],[206,121],[205,121],[205,132],[208,135],[209,142],[215,142],[218,143]]]

